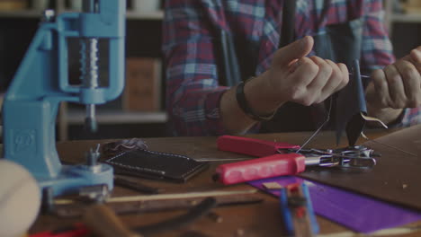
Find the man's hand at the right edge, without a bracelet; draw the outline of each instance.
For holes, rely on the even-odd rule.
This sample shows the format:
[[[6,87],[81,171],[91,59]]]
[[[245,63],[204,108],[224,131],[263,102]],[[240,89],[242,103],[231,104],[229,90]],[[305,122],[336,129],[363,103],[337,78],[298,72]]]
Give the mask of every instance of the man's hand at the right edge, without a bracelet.
[[[421,105],[421,47],[394,64],[375,70],[367,86],[369,115],[385,123],[393,122],[405,108]]]

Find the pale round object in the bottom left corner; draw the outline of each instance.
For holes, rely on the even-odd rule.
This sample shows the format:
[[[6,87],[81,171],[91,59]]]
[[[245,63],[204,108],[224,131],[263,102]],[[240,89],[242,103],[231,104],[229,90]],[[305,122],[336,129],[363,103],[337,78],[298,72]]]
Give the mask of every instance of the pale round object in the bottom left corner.
[[[22,236],[40,211],[40,187],[22,165],[0,159],[0,236]]]

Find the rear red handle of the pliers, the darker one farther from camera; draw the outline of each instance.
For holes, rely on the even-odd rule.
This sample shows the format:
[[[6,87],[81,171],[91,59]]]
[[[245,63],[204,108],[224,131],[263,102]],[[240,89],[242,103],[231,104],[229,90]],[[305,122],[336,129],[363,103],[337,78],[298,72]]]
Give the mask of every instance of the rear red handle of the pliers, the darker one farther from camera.
[[[282,153],[282,150],[300,148],[300,145],[288,143],[270,142],[243,136],[219,136],[217,139],[218,149],[221,151],[237,154],[248,154],[256,157],[264,157]]]

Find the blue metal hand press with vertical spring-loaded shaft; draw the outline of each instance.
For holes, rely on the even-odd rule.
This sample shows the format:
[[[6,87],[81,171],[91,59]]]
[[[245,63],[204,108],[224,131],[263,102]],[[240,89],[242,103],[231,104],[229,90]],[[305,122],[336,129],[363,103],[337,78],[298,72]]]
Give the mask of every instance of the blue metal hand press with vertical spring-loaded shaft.
[[[91,162],[61,164],[56,149],[56,118],[61,101],[86,105],[85,122],[96,129],[96,104],[116,99],[124,87],[126,1],[84,0],[83,12],[45,11],[40,29],[4,98],[4,158],[22,164],[53,195],[82,186],[107,184],[112,189],[112,167]],[[67,40],[81,41],[80,85],[68,80]],[[108,41],[106,87],[98,80],[98,41]]]

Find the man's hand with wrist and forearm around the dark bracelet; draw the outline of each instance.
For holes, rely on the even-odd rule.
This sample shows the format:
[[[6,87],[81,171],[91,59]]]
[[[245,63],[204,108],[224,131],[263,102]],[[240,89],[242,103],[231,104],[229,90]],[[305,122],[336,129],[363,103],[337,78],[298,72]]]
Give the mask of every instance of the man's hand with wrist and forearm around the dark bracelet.
[[[348,83],[344,64],[307,57],[313,44],[311,37],[305,37],[278,49],[270,69],[245,83],[246,101],[255,114],[271,114],[287,101],[319,103]],[[236,87],[222,95],[220,110],[223,126],[231,134],[242,134],[256,122],[239,108]]]

